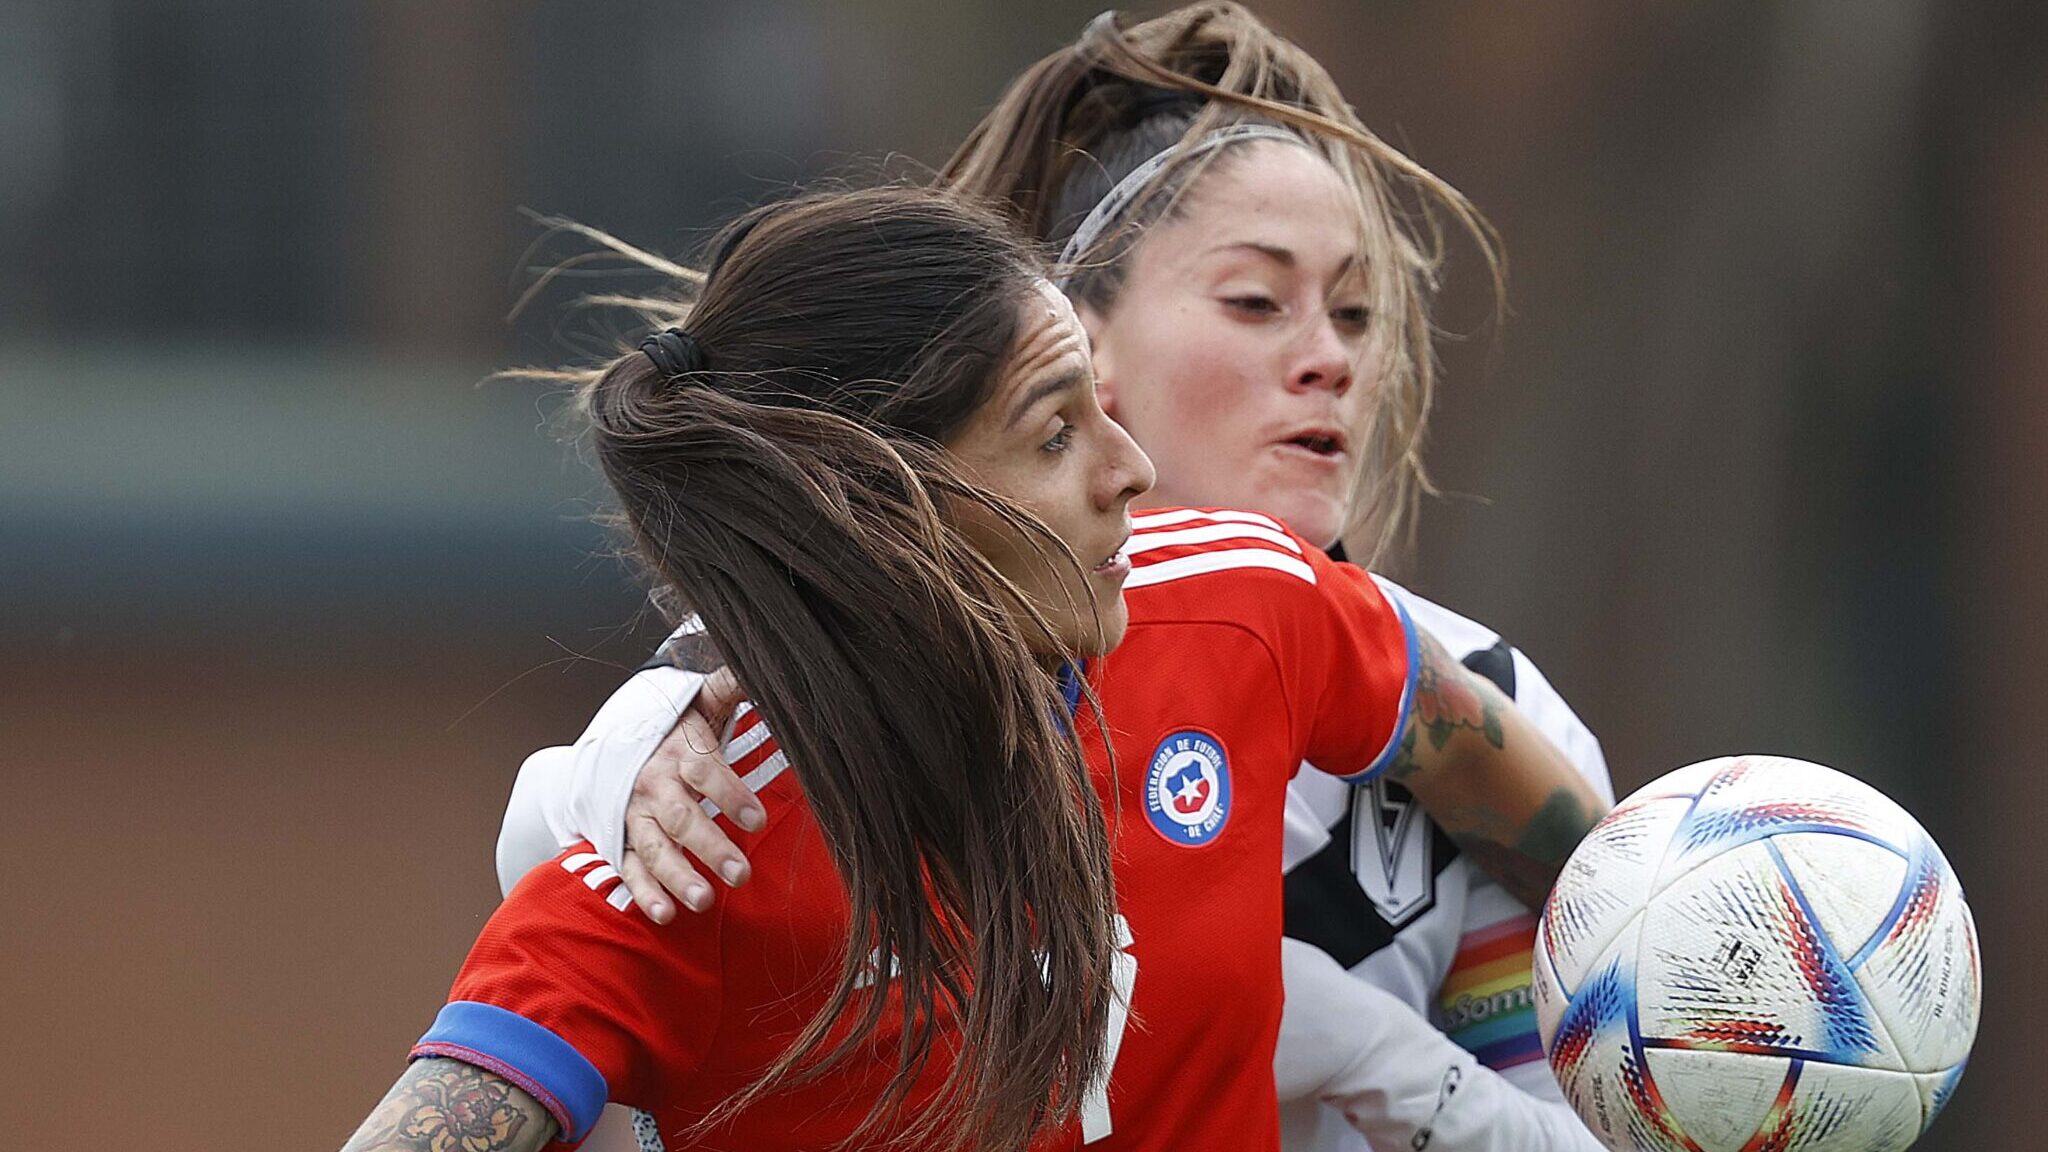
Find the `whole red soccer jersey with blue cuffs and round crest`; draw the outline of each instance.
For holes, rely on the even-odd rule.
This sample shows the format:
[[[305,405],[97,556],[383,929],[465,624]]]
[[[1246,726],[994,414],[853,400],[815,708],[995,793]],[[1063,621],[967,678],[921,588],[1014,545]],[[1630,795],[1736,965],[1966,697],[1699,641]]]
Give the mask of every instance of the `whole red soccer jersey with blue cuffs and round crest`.
[[[1106,1093],[1047,1146],[1272,1150],[1280,1027],[1280,838],[1303,760],[1368,777],[1391,760],[1413,693],[1413,629],[1364,572],[1251,512],[1135,519],[1130,631],[1094,662],[1114,760],[1085,709],[1128,927]],[[535,869],[492,916],[414,1056],[520,1084],[580,1140],[606,1101],[651,1111],[676,1148],[823,1004],[846,896],[797,773],[758,713],[727,754],[770,812],[735,834],[756,879],[705,916],[629,912],[588,849]],[[872,1060],[778,1093],[702,1148],[827,1148],[895,1066]],[[936,1086],[934,1068],[924,1088]],[[911,1101],[915,1107],[915,1099]]]

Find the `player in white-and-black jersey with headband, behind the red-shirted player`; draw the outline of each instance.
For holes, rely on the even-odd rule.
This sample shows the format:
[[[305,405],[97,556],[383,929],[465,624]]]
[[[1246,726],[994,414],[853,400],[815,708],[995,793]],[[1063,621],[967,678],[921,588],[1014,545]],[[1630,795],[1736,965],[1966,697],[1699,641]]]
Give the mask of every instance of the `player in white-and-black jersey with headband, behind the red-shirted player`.
[[[1067,250],[1104,406],[1153,455],[1155,502],[1260,508],[1368,551],[1399,539],[1425,486],[1436,266],[1386,205],[1411,193],[1487,234],[1454,189],[1366,131],[1305,51],[1233,4],[1096,20],[1010,86],[944,178]],[[1612,797],[1597,742],[1526,656],[1397,596]],[[655,914],[674,914],[664,883],[709,906],[678,847],[745,875],[692,804],[750,820],[743,789],[692,752],[715,746],[707,715],[676,724],[698,683],[643,672],[573,748],[528,760],[500,842],[506,883],[561,836],[590,836]],[[1288,931],[1303,945],[1286,955],[1276,1062],[1296,1101],[1290,1148],[1597,1148],[1528,1011],[1530,906],[1589,820],[1503,842],[1466,816],[1434,824],[1399,783],[1292,797]]]

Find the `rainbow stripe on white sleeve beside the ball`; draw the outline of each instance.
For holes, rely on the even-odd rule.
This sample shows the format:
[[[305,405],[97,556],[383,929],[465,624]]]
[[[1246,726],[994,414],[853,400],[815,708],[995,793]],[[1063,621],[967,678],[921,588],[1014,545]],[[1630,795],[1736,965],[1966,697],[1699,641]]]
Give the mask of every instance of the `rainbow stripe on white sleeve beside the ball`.
[[[1487,1068],[1542,1060],[1530,961],[1536,916],[1522,914],[1466,933],[1438,990],[1444,1033]]]

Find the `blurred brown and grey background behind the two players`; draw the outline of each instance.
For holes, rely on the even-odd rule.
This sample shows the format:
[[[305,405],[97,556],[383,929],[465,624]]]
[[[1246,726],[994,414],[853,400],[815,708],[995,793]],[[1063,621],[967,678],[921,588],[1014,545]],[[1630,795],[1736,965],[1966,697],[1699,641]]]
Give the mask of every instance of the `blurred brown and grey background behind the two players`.
[[[657,635],[561,398],[481,383],[592,346],[563,293],[506,320],[518,209],[690,252],[938,164],[1100,2],[0,6],[6,1144],[340,1146],[496,902],[520,758]],[[1620,791],[1774,750],[1913,808],[1989,986],[1923,1146],[2032,1146],[2044,8],[1255,8],[1511,258],[1493,326],[1452,256],[1405,578]]]

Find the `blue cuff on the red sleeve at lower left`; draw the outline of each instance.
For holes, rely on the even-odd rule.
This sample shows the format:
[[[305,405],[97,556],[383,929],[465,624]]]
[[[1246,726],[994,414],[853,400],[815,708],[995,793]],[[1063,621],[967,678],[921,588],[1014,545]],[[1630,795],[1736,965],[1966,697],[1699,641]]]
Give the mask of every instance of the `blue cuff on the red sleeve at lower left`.
[[[412,1058],[444,1056],[504,1076],[532,1097],[573,1144],[590,1134],[610,1088],[604,1074],[569,1041],[496,1004],[455,1000],[440,1009]]]

